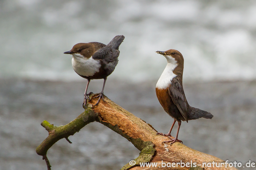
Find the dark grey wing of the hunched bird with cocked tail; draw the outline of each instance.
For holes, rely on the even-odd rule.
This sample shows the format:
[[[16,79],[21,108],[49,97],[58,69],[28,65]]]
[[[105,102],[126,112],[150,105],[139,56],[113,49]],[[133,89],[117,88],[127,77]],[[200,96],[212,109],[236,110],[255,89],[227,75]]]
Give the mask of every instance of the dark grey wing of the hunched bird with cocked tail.
[[[110,46],[105,46],[97,51],[92,55],[93,59],[102,59],[107,63],[114,61],[119,56],[120,51],[114,49]]]

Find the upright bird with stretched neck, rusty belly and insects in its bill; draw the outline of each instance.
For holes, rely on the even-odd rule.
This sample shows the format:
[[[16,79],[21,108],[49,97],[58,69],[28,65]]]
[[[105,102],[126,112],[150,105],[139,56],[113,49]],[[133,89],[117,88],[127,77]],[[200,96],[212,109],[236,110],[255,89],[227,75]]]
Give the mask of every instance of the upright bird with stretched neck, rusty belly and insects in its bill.
[[[178,139],[179,128],[181,121],[199,119],[204,117],[211,119],[213,115],[201,109],[189,106],[182,86],[182,76],[184,68],[184,59],[182,54],[174,49],[167,51],[156,51],[156,53],[163,55],[167,59],[167,66],[165,67],[162,75],[156,83],[156,96],[174,122],[168,134],[157,133],[156,135],[170,136],[175,122],[178,122],[178,130],[176,137],[172,140],[164,141],[174,143],[175,141],[182,142]]]

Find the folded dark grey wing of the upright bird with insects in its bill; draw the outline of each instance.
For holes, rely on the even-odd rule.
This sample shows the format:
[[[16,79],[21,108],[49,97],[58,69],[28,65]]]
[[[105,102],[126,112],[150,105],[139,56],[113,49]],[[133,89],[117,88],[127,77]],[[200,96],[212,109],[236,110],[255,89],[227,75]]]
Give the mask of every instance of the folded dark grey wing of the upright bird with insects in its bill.
[[[184,119],[188,122],[188,102],[180,82],[173,78],[172,84],[168,88],[169,95],[172,97],[173,103],[177,106]]]

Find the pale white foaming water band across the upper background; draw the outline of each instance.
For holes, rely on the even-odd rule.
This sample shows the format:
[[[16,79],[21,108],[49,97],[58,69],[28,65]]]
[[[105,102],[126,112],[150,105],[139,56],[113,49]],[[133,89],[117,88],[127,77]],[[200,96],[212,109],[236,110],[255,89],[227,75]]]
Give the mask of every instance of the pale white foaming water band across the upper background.
[[[166,59],[155,51],[177,49],[184,81],[255,79],[256,2],[232,2],[4,0],[0,77],[80,80],[63,52],[124,35],[112,78],[157,80]]]

